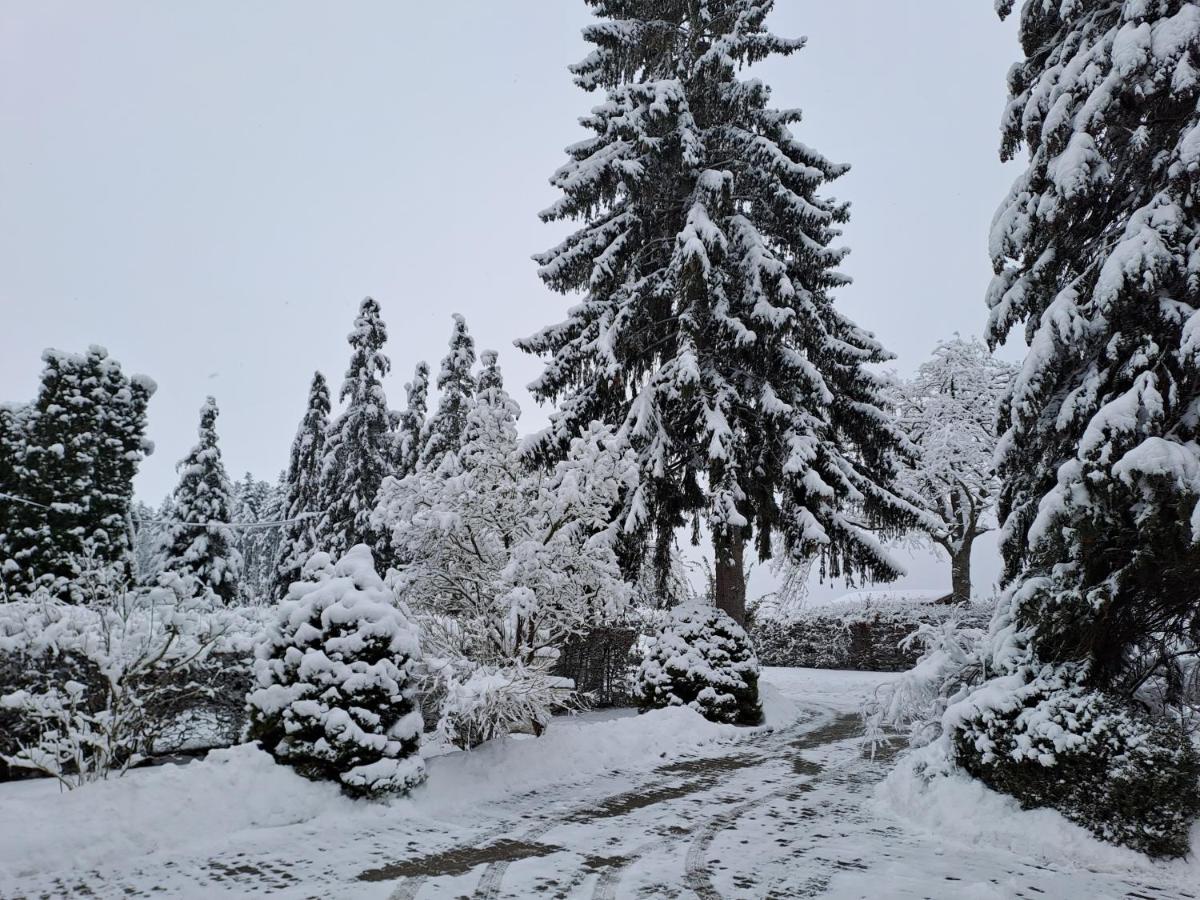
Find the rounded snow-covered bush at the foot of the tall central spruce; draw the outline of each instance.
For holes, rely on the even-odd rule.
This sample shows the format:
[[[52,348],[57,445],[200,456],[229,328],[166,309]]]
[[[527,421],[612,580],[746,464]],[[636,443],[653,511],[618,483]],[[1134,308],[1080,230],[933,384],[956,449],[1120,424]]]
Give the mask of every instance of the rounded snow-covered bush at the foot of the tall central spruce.
[[[686,604],[643,650],[634,692],[642,710],[691,707],[714,722],[757,725],[758,660],[746,632],[706,604]]]

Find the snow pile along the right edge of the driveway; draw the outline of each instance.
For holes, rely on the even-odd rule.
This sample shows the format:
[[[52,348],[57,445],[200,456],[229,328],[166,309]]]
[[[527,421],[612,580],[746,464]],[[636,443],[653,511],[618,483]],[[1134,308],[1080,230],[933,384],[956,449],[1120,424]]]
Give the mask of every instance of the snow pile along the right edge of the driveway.
[[[918,774],[922,752],[902,756],[877,787],[882,811],[913,829],[953,846],[985,846],[1026,859],[1110,872],[1170,872],[1200,883],[1200,823],[1192,829],[1193,854],[1186,860],[1151,862],[1127,847],[1105,844],[1050,809],[1022,810],[964,773],[926,780]]]

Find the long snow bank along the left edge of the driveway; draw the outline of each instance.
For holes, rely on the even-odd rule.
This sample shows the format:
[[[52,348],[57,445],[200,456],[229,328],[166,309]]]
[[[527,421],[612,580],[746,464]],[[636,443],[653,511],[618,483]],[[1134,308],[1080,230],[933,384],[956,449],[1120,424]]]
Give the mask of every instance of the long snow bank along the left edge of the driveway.
[[[763,727],[797,716],[796,703],[772,685],[764,685],[763,707]],[[239,842],[232,835],[247,829],[305,823],[308,830],[353,832],[372,822],[436,817],[606,772],[647,770],[756,731],[716,725],[684,708],[557,718],[540,738],[510,736],[470,752],[422,748],[432,757],[428,781],[390,805],[352,800],[335,784],[307,781],[253,744],[71,792],[60,792],[49,779],[0,784],[0,893],[4,882],[24,875],[227,850]],[[247,842],[253,840],[247,835]]]

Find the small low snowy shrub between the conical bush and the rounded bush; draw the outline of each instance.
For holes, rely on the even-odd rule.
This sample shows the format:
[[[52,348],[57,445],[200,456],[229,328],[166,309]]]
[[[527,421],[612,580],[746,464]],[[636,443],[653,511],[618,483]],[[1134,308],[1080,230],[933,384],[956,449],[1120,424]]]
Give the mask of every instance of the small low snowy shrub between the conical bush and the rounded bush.
[[[574,706],[575,684],[539,668],[481,666],[445,683],[438,737],[463,750],[504,734],[540,736],[551,710]]]

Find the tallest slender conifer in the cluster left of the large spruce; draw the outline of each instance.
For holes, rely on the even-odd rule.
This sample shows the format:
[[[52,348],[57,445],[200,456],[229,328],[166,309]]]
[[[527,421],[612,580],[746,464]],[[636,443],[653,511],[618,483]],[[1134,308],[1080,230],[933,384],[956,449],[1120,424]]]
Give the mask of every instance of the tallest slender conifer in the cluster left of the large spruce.
[[[320,472],[322,517],[317,542],[338,557],[356,544],[374,546],[371,512],[390,467],[391,415],[383,379],[391,370],[384,355],[388,330],[379,304],[370,296],[359,307],[350,343],[350,366],[338,395],[344,403],[325,436]]]

